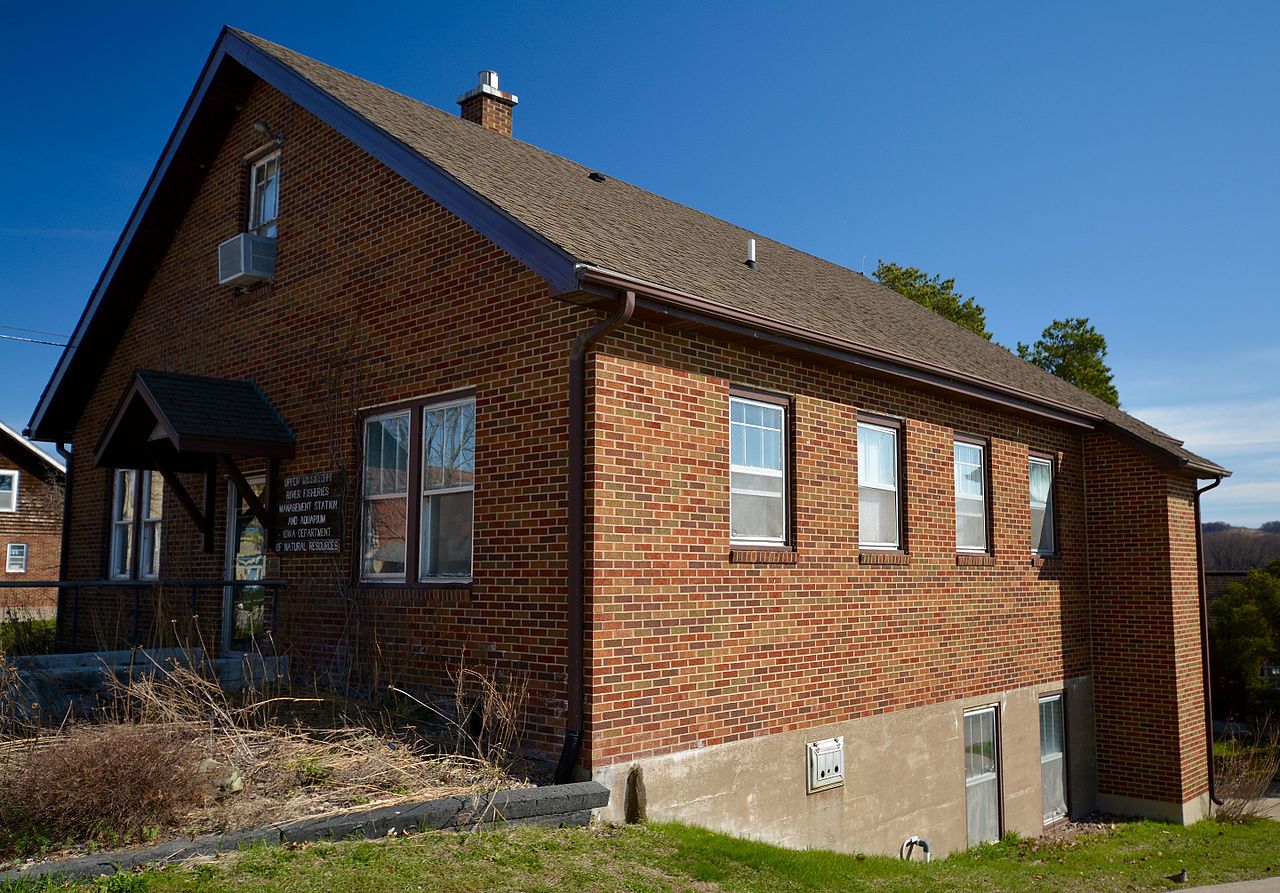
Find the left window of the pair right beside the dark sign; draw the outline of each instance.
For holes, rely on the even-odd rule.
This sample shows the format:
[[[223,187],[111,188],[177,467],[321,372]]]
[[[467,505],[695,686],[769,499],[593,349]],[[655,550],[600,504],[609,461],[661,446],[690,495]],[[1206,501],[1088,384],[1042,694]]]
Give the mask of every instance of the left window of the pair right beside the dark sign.
[[[404,580],[411,420],[408,409],[365,420],[362,580]]]

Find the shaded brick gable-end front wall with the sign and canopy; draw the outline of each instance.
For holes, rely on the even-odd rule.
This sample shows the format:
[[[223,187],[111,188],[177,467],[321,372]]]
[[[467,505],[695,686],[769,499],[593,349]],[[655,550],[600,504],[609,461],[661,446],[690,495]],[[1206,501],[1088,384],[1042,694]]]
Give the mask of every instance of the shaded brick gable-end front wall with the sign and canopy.
[[[252,130],[257,120],[287,134],[278,278],[237,294],[216,284],[216,246],[244,225],[243,159],[262,142]],[[422,688],[440,682],[465,649],[472,663],[531,677],[529,741],[556,752],[564,679],[566,371],[572,338],[594,319],[550,299],[539,278],[494,244],[259,84],[76,430],[70,573],[106,574],[110,472],[93,467],[92,452],[137,367],[253,377],[297,435],[298,455],[282,473],[340,466],[351,481],[356,408],[475,388],[468,604],[453,603],[456,592],[344,585],[358,527],[353,499],[346,554],[283,555],[270,560],[269,573],[293,581],[282,626],[289,624],[315,672],[344,681],[357,663],[366,684]],[[262,468],[247,463],[244,471]],[[200,499],[197,480],[187,489]],[[163,577],[223,576],[225,503],[220,478],[218,554],[205,555],[193,522],[166,499]],[[179,606],[187,597],[173,596]],[[129,623],[119,596],[82,597],[81,647]],[[155,608],[143,601],[146,624]],[[197,609],[206,644],[216,647],[220,592],[200,594]]]

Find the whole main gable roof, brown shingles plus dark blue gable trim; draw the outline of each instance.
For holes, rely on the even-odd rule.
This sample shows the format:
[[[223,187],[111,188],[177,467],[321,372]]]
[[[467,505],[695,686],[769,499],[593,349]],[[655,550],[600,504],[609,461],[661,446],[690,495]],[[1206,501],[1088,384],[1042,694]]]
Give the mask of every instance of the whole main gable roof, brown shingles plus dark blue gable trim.
[[[659,312],[769,333],[782,344],[881,374],[1100,427],[1156,453],[1170,467],[1201,476],[1230,473],[1184,449],[1180,440],[861,274],[612,175],[598,182],[590,168],[234,29],[223,31],[72,347],[45,389],[31,423],[37,436],[65,435],[84,399],[73,384],[78,370],[105,362],[114,344],[110,329],[123,331],[127,324],[127,316],[119,321],[123,313],[114,315],[114,325],[96,324],[95,317],[113,292],[127,290],[115,288],[116,270],[134,253],[142,253],[134,267],[148,269],[145,252],[154,252],[155,244],[136,251],[131,233],[148,216],[163,225],[165,212],[172,217],[184,207],[177,189],[170,189],[168,202],[156,201],[168,180],[178,179],[166,177],[169,169],[184,150],[191,164],[201,148],[205,154],[216,148],[191,146],[197,133],[207,138],[218,127],[229,127],[227,110],[211,96],[227,105],[228,95],[247,90],[255,78],[419,186],[541,275],[553,293],[632,288]],[[742,262],[748,238],[756,239],[755,270]],[[123,299],[132,297],[118,298]]]

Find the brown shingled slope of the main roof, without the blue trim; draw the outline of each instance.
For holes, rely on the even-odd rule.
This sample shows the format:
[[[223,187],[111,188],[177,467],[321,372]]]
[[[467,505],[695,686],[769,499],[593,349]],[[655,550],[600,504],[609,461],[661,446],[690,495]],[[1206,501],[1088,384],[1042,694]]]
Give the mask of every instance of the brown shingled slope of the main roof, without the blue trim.
[[[388,136],[443,168],[579,262],[727,308],[837,338],[874,353],[947,370],[1065,404],[1208,472],[1213,462],[1005,348],[872,279],[626,183],[486,130],[283,46],[236,32]],[[759,269],[742,264],[755,238]]]

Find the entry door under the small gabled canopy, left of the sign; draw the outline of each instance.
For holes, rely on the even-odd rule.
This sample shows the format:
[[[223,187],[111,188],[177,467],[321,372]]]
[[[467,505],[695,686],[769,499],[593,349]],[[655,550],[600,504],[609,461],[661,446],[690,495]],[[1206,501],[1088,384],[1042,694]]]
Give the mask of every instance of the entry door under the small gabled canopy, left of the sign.
[[[259,496],[262,477],[248,478]],[[227,485],[227,577],[266,578],[266,531],[237,490]],[[223,590],[223,651],[248,651],[266,629],[266,590],[261,586],[227,586]]]

